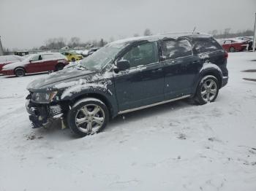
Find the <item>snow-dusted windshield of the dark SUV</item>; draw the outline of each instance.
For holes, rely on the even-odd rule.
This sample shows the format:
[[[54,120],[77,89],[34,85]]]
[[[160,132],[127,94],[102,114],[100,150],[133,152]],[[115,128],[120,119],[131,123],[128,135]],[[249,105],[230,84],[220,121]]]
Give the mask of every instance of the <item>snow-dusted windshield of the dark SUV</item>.
[[[125,44],[107,44],[105,47],[100,48],[97,52],[94,52],[89,57],[80,61],[80,66],[89,70],[101,70],[104,66],[110,63],[110,61],[113,61],[116,54],[124,48],[124,46]]]

